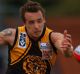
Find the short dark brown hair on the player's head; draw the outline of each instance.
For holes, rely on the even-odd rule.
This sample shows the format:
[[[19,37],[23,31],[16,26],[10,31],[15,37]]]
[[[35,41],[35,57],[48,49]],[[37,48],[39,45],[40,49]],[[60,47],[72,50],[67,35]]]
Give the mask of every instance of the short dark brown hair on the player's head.
[[[43,16],[45,16],[45,11],[41,7],[40,3],[33,2],[33,1],[28,1],[26,4],[24,4],[20,8],[20,14],[21,14],[21,18],[22,18],[23,22],[25,22],[24,15],[25,15],[26,12],[38,12],[39,10],[42,12]]]

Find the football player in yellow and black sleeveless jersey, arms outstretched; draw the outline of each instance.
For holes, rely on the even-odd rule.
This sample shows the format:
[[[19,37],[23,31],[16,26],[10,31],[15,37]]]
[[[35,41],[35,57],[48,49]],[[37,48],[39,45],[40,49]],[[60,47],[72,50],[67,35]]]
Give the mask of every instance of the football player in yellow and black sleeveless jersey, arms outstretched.
[[[71,36],[48,29],[37,2],[27,2],[20,11],[24,26],[0,32],[0,44],[9,46],[7,74],[50,74],[58,50],[71,55]]]

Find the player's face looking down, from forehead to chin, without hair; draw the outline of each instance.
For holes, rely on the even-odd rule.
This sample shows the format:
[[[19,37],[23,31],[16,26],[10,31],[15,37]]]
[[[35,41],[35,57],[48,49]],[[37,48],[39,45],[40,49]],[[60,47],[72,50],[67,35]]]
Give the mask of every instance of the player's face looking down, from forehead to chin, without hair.
[[[26,12],[25,22],[27,32],[31,38],[38,38],[42,34],[45,18],[41,11]]]

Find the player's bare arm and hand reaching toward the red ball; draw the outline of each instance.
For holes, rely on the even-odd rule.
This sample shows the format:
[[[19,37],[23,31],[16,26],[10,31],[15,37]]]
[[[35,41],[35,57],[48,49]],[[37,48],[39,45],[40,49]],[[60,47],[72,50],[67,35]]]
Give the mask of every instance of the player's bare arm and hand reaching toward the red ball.
[[[51,40],[55,44],[56,48],[62,52],[62,54],[72,54],[72,40],[69,34],[53,32],[51,35]]]

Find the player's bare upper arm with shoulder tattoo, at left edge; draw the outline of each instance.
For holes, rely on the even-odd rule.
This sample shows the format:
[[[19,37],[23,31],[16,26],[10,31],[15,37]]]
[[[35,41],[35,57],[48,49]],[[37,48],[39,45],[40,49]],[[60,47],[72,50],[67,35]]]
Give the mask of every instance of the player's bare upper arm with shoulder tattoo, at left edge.
[[[0,45],[2,44],[13,44],[15,38],[16,29],[5,29],[0,32]]]

